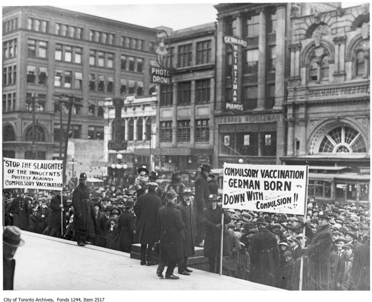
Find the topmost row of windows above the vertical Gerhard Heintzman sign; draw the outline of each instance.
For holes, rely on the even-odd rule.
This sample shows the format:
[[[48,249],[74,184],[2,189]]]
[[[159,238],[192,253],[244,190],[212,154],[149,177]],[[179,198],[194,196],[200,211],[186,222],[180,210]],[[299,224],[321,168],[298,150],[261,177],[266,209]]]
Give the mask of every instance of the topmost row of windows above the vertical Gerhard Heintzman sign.
[[[277,26],[276,13],[271,12],[266,14],[266,33],[275,33]],[[233,18],[226,19],[226,34],[229,36],[241,36],[242,33],[238,33],[238,20]],[[258,37],[260,29],[260,16],[259,15],[248,15],[243,18],[243,37],[254,38]]]

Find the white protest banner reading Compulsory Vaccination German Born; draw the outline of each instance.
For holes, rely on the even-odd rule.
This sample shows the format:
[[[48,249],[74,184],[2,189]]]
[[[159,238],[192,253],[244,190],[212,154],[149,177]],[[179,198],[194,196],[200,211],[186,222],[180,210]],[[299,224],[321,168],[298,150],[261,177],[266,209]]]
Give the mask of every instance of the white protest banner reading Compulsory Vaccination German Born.
[[[305,215],[308,167],[224,164],[223,208]]]

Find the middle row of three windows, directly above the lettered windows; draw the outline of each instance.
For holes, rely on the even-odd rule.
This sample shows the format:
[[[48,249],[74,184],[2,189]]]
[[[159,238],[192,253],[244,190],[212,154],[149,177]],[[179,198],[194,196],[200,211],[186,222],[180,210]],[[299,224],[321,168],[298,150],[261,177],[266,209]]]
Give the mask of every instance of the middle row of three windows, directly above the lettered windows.
[[[210,102],[210,79],[195,81],[195,103]],[[177,104],[191,103],[191,82],[179,82],[177,86]],[[173,86],[160,86],[160,106],[173,105]]]

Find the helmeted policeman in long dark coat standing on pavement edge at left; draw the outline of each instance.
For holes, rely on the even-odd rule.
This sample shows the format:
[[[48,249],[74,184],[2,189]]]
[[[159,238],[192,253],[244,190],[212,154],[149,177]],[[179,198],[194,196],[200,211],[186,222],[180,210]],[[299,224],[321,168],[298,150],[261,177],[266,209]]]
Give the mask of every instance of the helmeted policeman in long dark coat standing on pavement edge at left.
[[[88,232],[88,215],[89,210],[89,191],[86,186],[86,174],[80,173],[79,184],[73,190],[72,206],[74,209],[74,217],[72,230],[76,231],[76,242],[79,246],[86,244],[86,235]]]

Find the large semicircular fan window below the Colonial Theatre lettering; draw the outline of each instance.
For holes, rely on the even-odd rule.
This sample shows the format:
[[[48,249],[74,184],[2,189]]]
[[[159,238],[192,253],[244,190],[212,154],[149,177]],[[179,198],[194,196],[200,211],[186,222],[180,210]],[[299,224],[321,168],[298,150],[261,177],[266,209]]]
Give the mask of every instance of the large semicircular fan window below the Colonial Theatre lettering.
[[[339,126],[325,134],[319,153],[365,153],[366,143],[360,132],[349,126]]]

